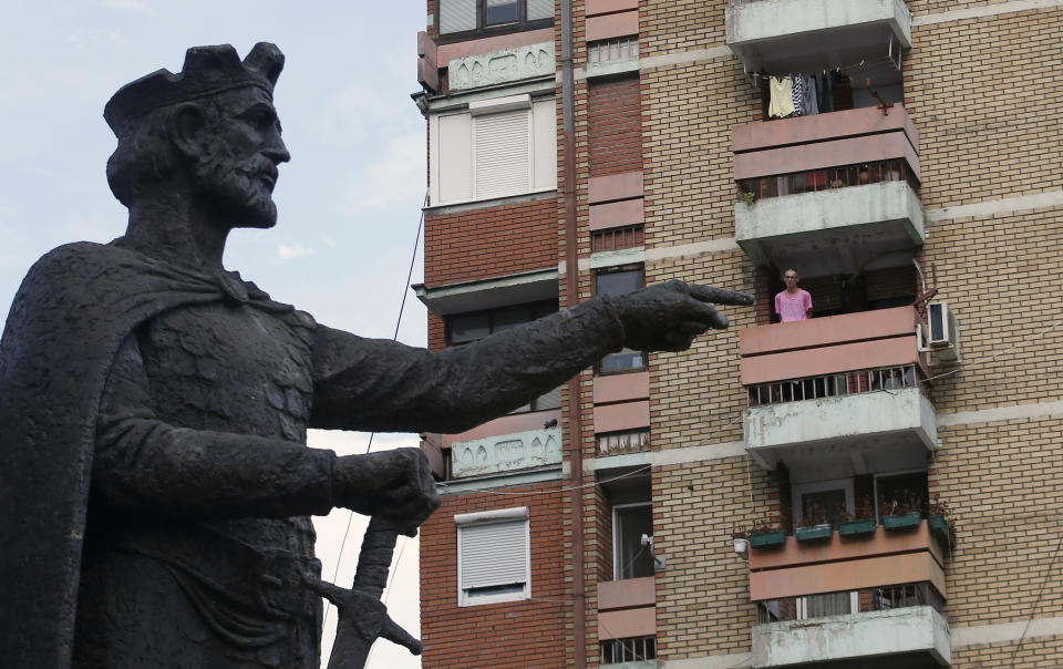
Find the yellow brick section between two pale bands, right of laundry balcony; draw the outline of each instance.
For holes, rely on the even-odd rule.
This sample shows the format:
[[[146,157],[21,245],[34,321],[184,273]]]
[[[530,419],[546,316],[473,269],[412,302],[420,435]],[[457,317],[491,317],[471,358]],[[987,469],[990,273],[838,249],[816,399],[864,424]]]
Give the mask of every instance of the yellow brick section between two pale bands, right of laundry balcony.
[[[925,207],[1060,188],[1060,8],[916,27],[912,44],[905,99]]]

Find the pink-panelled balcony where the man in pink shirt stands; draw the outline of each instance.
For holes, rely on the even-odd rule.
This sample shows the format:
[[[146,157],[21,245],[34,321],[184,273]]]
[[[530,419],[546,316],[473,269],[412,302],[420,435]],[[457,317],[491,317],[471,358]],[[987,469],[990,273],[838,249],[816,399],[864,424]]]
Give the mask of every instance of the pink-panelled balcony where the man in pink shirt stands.
[[[937,414],[916,318],[897,307],[742,330],[749,453],[819,478],[925,466]]]

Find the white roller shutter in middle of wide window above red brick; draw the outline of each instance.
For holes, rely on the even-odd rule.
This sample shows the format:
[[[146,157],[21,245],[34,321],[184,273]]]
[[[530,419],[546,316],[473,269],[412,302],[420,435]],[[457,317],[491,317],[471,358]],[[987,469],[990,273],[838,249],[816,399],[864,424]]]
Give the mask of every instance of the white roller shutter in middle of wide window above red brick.
[[[530,188],[532,143],[527,110],[476,116],[476,198],[504,197]]]

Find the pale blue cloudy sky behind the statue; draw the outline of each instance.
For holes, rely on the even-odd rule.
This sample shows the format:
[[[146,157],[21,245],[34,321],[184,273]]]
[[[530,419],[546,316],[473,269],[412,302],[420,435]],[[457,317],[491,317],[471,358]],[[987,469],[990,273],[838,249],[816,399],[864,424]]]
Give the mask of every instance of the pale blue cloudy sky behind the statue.
[[[423,1],[4,0],[0,28],[0,303],[4,317],[27,269],[68,241],[110,241],[126,212],[105,165],[115,138],[103,105],[159,68],[178,72],[188,47],[259,41],[287,56],[275,103],[291,152],[275,191],[278,225],[229,236],[227,269],[318,322],[368,337],[425,344],[425,310],[409,290],[423,276],[416,246],[425,189],[425,126],[410,99]],[[368,434],[313,431],[310,445],[363,453]],[[373,451],[415,446],[378,434]],[[351,514],[316,518],[318,557],[331,579]],[[355,516],[337,583],[350,586],[365,519]],[[417,542],[400,538],[392,617],[420,634]],[[327,613],[323,661],[336,627]],[[368,667],[420,667],[379,641]]]

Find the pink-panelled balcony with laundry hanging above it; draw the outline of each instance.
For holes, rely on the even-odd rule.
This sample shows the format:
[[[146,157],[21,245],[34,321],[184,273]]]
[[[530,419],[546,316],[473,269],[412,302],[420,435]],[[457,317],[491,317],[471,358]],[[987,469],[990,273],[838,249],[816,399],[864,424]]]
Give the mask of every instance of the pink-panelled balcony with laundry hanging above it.
[[[751,194],[735,240],[757,265],[856,274],[910,264],[923,244],[919,137],[901,105],[737,125],[732,145]]]

